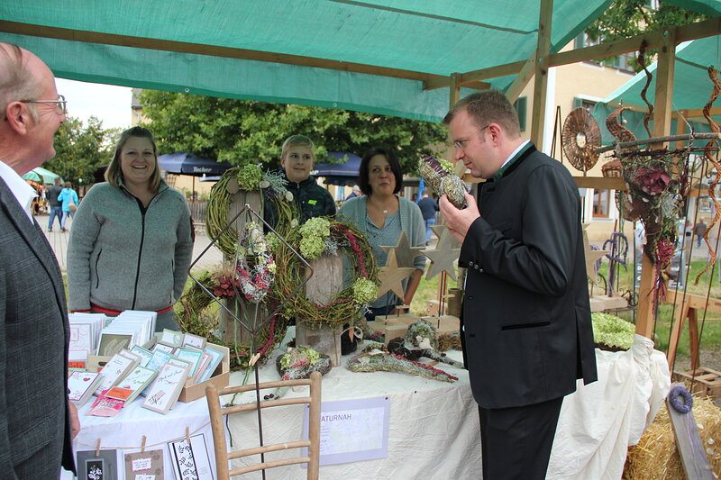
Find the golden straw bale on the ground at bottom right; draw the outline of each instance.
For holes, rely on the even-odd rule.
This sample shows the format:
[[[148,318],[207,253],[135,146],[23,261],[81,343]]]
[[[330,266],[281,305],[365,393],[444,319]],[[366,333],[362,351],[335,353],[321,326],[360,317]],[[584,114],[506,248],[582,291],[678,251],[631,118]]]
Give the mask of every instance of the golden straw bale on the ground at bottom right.
[[[721,475],[721,409],[708,397],[694,396],[693,416],[706,456],[716,475]],[[628,448],[625,480],[678,480],[686,478],[681,465],[671,419],[663,403],[638,445]],[[716,476],[718,478],[718,476]]]

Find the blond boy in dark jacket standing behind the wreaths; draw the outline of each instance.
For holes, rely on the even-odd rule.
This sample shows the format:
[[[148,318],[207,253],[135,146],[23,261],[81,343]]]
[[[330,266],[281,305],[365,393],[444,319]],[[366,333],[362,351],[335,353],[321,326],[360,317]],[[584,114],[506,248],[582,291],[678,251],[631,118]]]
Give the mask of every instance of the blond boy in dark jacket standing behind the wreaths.
[[[313,141],[305,135],[292,135],[283,142],[280,153],[280,166],[287,179],[287,189],[296,201],[300,223],[309,218],[335,215],[333,195],[310,175],[315,159],[314,149]],[[275,205],[266,200],[264,211],[265,221],[275,227],[278,222]]]

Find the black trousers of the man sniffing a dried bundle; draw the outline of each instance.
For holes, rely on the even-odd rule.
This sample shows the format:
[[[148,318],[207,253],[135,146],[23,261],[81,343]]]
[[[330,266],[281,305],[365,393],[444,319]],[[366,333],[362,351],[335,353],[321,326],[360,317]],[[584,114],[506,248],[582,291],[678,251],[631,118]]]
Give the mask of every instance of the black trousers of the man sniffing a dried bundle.
[[[479,406],[483,480],[543,480],[563,397],[523,407]]]

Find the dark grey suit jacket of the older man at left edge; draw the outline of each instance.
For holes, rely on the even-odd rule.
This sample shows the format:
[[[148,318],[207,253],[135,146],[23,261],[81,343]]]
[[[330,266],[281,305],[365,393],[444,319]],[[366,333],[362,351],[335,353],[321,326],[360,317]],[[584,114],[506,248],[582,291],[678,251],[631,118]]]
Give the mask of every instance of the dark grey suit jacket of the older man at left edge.
[[[58,260],[0,178],[0,476],[74,469],[68,312]]]

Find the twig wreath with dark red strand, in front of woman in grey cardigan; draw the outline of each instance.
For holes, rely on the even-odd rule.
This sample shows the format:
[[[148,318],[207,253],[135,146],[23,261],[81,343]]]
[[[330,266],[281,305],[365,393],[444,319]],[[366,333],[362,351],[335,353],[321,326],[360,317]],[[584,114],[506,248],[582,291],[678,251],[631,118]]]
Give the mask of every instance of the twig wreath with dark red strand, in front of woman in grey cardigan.
[[[297,285],[306,279],[306,272],[300,260],[285,244],[269,235],[271,246],[275,241],[276,262],[282,275],[273,284],[272,295],[280,300],[287,298]],[[353,323],[368,303],[378,297],[378,267],[370,243],[355,227],[329,217],[308,220],[299,229],[291,231],[287,242],[300,251],[306,259],[322,255],[343,255],[351,269],[351,285],[345,286],[333,300],[325,305],[316,305],[305,294],[295,295],[285,305],[283,314],[295,317],[299,322],[315,324],[319,328],[331,329],[343,323]]]

